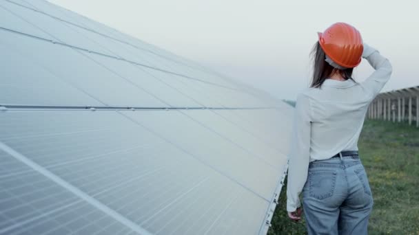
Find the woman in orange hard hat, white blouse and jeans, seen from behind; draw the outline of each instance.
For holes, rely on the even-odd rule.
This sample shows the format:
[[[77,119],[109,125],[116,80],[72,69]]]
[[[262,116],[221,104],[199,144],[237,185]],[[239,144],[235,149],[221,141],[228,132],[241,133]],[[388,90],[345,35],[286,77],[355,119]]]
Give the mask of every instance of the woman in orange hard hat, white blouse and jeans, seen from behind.
[[[309,234],[367,234],[374,200],[357,143],[391,64],[347,23],[318,33],[312,53],[313,80],[297,98],[288,157],[288,216],[299,221],[304,211]],[[375,71],[356,82],[351,75],[362,58]]]

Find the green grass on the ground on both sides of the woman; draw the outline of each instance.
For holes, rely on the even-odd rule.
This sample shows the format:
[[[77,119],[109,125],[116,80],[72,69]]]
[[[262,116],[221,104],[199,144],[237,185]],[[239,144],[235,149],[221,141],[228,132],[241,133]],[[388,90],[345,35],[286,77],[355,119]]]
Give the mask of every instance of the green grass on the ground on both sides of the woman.
[[[358,142],[374,197],[369,234],[419,234],[419,128],[366,120]],[[288,219],[286,185],[268,234],[307,234]]]

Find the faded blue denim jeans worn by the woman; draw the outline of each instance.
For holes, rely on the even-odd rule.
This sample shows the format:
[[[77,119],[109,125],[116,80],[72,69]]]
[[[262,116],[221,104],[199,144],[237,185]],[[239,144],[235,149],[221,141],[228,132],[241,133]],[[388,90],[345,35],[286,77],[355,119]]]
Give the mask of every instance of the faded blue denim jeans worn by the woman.
[[[308,234],[367,234],[374,200],[360,159],[311,161],[302,194]]]

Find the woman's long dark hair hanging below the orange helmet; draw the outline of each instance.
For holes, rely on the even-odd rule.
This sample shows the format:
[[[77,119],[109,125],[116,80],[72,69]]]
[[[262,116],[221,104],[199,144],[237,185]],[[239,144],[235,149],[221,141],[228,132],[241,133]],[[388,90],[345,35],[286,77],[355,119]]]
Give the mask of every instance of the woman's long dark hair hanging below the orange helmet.
[[[326,54],[320,47],[320,43],[316,43],[311,50],[311,58],[313,61],[313,78],[311,80],[310,87],[320,88],[327,78],[332,76],[335,73],[338,73],[343,76],[345,80],[351,79],[354,80],[352,76],[352,71],[354,68],[350,69],[336,69],[333,66],[329,65],[326,62]],[[354,80],[355,82],[355,80]]]

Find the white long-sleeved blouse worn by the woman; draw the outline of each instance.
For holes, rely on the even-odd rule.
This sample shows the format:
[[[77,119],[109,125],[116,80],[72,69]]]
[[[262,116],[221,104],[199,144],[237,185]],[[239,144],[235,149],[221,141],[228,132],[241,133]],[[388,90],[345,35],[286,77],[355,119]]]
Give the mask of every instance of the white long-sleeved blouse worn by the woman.
[[[343,150],[358,150],[358,137],[369,103],[391,76],[389,60],[364,44],[362,58],[376,69],[364,82],[326,79],[321,88],[298,94],[289,148],[287,211],[300,207],[299,194],[310,161],[329,159]]]

